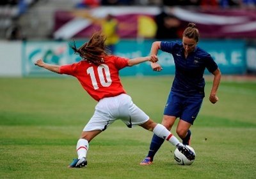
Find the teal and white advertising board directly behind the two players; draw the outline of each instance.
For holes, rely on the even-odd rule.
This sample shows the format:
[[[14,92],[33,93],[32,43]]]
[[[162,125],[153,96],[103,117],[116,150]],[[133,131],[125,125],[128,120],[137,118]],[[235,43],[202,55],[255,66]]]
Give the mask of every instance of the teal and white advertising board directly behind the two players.
[[[152,40],[136,41],[122,40],[116,45],[115,55],[132,59],[149,55]],[[47,70],[34,65],[37,59],[44,59],[49,64],[70,64],[80,61],[79,55],[74,54],[69,47],[70,41],[27,41],[23,44],[22,74],[24,76],[49,76]],[[84,41],[76,41],[79,47]],[[204,48],[218,64],[223,75],[243,75],[246,73],[246,44],[240,40],[227,41],[200,41],[198,46]],[[171,54],[159,50],[159,64],[163,71],[155,72],[150,67],[150,62],[139,64],[120,71],[123,76],[143,75],[173,75],[174,62]],[[208,73],[208,72],[206,72]]]

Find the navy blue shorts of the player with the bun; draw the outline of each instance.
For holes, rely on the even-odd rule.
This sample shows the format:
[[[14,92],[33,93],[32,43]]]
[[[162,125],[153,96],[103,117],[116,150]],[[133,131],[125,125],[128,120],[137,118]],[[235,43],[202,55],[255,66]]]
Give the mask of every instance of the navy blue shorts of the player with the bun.
[[[170,92],[164,115],[179,117],[193,124],[203,103],[203,96],[184,97]]]

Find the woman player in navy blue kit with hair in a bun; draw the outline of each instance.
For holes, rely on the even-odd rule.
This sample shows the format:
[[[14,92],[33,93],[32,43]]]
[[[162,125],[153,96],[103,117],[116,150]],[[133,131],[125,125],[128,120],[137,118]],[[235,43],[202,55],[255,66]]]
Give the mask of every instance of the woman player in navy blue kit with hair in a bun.
[[[155,41],[152,44],[151,55],[157,55],[158,50],[172,54],[175,62],[175,78],[172,89],[168,96],[162,124],[168,130],[177,118],[176,132],[182,139],[184,145],[190,145],[191,131],[189,128],[198,115],[204,99],[204,71],[205,68],[214,76],[209,101],[212,104],[218,101],[216,96],[220,84],[221,72],[211,55],[197,46],[199,32],[194,23],[189,23],[183,32],[182,42],[178,41]],[[154,71],[161,71],[162,68],[157,62],[152,62]],[[140,163],[150,165],[154,155],[163,144],[163,139],[155,134],[150,143],[147,157]]]

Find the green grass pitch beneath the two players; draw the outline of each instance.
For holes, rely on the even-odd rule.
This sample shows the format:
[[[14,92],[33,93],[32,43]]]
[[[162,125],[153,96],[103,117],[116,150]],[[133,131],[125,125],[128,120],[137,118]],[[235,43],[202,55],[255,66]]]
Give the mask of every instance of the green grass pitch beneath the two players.
[[[134,103],[161,122],[172,78],[122,82]],[[140,166],[152,133],[117,121],[90,143],[87,168],[68,169],[96,102],[74,78],[0,78],[0,178],[255,178],[256,82],[222,80],[214,105],[210,89],[207,80],[191,128],[191,166],[175,164],[175,148],[167,142],[152,166]]]

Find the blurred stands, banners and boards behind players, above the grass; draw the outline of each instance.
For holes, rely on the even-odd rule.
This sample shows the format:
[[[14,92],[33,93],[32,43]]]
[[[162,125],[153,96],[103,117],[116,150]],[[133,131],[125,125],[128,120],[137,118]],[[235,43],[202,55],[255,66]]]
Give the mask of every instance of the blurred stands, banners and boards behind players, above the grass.
[[[33,63],[79,61],[68,44],[99,29],[113,54],[148,55],[153,41],[181,40],[188,22],[223,75],[256,75],[256,0],[1,0],[0,76],[52,76]],[[121,75],[174,74],[172,56],[159,58],[161,73],[140,64]]]

